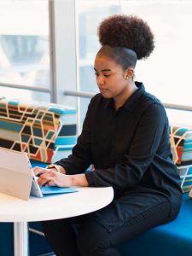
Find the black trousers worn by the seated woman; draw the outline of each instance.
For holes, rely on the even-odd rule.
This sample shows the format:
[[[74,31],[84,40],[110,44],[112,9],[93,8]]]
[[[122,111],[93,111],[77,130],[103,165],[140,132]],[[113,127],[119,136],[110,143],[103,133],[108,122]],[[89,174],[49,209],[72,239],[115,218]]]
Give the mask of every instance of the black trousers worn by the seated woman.
[[[161,195],[124,195],[99,211],[44,221],[42,227],[57,256],[119,256],[115,246],[171,221],[177,216],[171,217],[171,208]]]

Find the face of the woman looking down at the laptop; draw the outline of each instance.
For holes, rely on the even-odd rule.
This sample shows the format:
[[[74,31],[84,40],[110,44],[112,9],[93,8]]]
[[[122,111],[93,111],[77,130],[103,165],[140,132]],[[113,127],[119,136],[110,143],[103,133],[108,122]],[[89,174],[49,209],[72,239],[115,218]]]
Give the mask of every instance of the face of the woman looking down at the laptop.
[[[96,84],[105,98],[118,98],[128,90],[127,70],[112,59],[96,56]]]

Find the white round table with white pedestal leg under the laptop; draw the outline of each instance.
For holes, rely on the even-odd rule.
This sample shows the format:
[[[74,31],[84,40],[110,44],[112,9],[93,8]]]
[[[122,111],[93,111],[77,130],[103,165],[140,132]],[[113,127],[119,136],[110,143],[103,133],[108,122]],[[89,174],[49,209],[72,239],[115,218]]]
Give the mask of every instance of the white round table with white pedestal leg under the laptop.
[[[28,255],[27,222],[69,218],[94,212],[113,200],[113,188],[76,187],[78,192],[30,197],[29,201],[0,194],[0,222],[14,222],[15,256]]]

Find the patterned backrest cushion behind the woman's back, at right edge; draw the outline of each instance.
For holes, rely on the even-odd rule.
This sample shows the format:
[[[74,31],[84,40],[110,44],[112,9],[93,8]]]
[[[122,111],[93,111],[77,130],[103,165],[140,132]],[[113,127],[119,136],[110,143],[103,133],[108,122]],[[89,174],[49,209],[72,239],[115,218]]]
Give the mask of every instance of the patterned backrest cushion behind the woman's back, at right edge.
[[[170,143],[183,192],[187,192],[192,186],[192,131],[187,127],[172,125]]]

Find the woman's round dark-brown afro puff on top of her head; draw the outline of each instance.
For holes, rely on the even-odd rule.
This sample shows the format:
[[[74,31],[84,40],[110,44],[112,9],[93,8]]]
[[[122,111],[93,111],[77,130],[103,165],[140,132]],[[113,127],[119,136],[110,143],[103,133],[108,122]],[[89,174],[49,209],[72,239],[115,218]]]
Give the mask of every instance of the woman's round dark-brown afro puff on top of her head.
[[[148,24],[137,16],[108,17],[98,27],[98,36],[102,46],[133,49],[137,60],[147,58],[154,50],[154,34]]]

